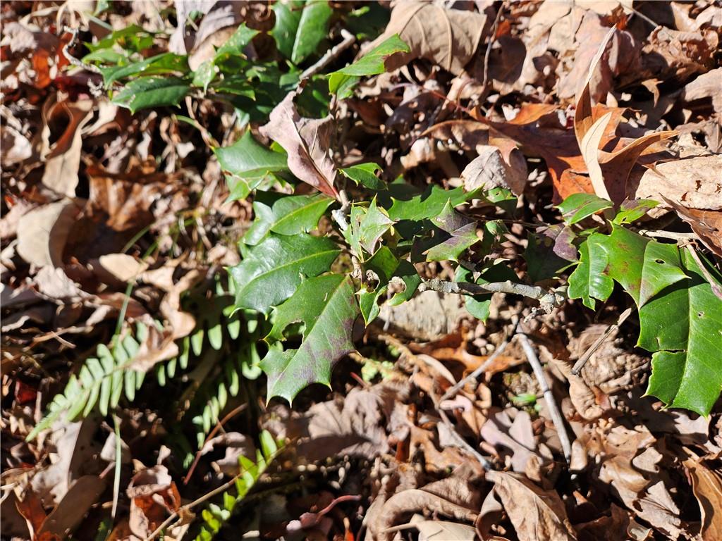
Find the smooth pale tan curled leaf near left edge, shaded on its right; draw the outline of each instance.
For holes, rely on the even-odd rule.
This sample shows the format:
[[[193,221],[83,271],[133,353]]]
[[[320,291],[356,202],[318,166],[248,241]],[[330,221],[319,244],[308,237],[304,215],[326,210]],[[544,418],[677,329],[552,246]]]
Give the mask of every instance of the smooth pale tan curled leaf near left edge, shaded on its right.
[[[61,266],[63,250],[79,207],[69,199],[34,208],[19,219],[17,252],[38,267]]]

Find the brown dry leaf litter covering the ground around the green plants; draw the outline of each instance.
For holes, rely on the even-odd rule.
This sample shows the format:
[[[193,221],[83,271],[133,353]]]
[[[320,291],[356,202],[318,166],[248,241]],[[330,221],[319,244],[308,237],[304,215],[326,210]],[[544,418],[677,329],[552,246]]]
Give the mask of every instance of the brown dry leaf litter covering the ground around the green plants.
[[[552,204],[586,193],[622,208],[625,200],[657,201],[635,220],[707,247],[708,260],[697,268],[718,276],[716,3],[399,1],[324,9],[319,2],[318,15],[311,4],[292,1],[115,4],[9,2],[2,9],[4,536],[149,539],[163,527],[168,539],[191,539],[207,511],[191,503],[215,496],[219,512],[227,506],[231,496],[220,501],[214,491],[220,495],[219,488],[253,471],[243,460],[262,456],[262,434],[284,440],[284,448],[253,480],[258,486],[243,513],[224,516],[230,526],[218,538],[239,531],[257,539],[346,541],[722,535],[719,401],[705,417],[641,395],[658,357],[635,347],[629,323],[615,324],[629,304],[625,297],[610,296],[593,319],[579,302],[541,316],[528,301],[495,294],[474,300],[486,303],[482,321],[469,313],[477,313],[473,304],[425,291],[384,306],[365,332],[355,330],[356,351],[344,343],[323,359],[336,366],[321,382],[333,390],[315,384],[289,408],[267,402],[256,348],[273,346],[261,343],[267,337],[248,310],[232,313],[238,291],[218,278],[223,268],[244,264],[243,272],[256,276],[274,235],[287,233],[248,232],[259,208],[272,214],[282,206],[261,196],[253,206],[229,198],[224,174],[254,170],[248,191],[274,185],[309,197],[316,188],[345,205],[337,172],[366,162],[380,166],[378,186],[404,175],[421,189],[518,195],[515,218],[499,230],[503,242],[492,254],[516,261],[516,273],[534,257],[521,223],[544,224],[554,217]],[[279,6],[290,14],[284,24],[298,14],[294,32],[303,21],[313,34],[313,47],[304,45],[292,63],[281,61],[281,33],[273,30]],[[323,20],[317,25],[312,15]],[[360,21],[375,30],[359,30]],[[84,44],[115,32],[125,52],[187,53],[200,70],[241,24],[258,31],[243,61],[261,66],[270,59],[277,70],[269,79],[261,74],[253,96],[275,93],[264,118],[244,116],[244,96],[221,102],[189,95],[180,108],[131,115],[105,97],[97,68],[77,61],[91,52]],[[378,53],[386,72],[370,79],[344,73],[337,82],[349,84],[351,97],[332,98],[332,114],[317,118],[318,87],[282,87],[280,77],[314,66],[323,47],[349,31],[354,40],[332,56],[335,69],[393,36],[409,52]],[[294,50],[303,45],[295,42]],[[271,139],[275,146],[258,150]],[[240,170],[230,170],[213,141],[247,145],[238,147],[248,153],[236,162]],[[371,171],[375,176],[377,168]],[[290,175],[303,182],[295,185]],[[331,203],[321,204],[323,214]],[[443,221],[442,208],[429,217]],[[489,208],[474,198],[467,212],[488,223],[496,218]],[[305,236],[297,242],[318,242],[308,232],[320,214],[310,212],[290,232]],[[383,229],[363,242],[370,251],[402,226],[378,214]],[[598,218],[591,212],[580,220]],[[354,224],[347,226],[353,238]],[[467,248],[486,242],[486,231],[477,238],[460,229],[446,233]],[[258,237],[260,250],[239,253],[244,234]],[[557,253],[544,266],[548,273],[535,276],[539,283],[578,258],[560,232],[539,230],[538,242]],[[425,265],[425,278],[453,279],[440,259]],[[324,265],[308,270],[304,283],[320,284],[323,276],[313,276],[330,263]],[[266,293],[256,294],[256,306],[270,308]],[[274,312],[280,338],[298,325],[314,333],[295,314],[297,297],[286,302]],[[351,312],[344,332],[354,327]],[[334,325],[316,334],[340,334]],[[568,463],[549,394],[542,395],[513,338],[520,325],[539,350],[562,429],[573,439]],[[505,340],[503,355],[492,358]],[[106,345],[110,357],[101,355]],[[286,372],[293,360],[283,354],[290,351],[280,351],[270,369],[289,398],[306,378],[303,366]],[[85,377],[84,361],[94,355],[103,377],[87,392],[84,419],[80,412],[60,416],[26,441],[70,374]],[[575,373],[573,364],[585,356]],[[107,359],[110,369],[101,366]],[[465,380],[479,366],[479,377]],[[121,384],[105,383],[115,374]],[[122,396],[114,398],[116,390]],[[112,415],[92,413],[98,397],[120,405]]]

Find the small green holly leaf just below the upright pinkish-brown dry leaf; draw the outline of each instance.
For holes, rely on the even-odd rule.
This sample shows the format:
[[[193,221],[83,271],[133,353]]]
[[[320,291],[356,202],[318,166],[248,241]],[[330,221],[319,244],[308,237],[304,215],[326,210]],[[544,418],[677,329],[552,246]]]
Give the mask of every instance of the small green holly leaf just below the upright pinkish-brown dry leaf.
[[[243,242],[257,245],[269,232],[284,235],[308,233],[316,229],[318,220],[333,202],[333,199],[322,193],[282,197],[273,206],[253,201],[256,219],[243,236]]]

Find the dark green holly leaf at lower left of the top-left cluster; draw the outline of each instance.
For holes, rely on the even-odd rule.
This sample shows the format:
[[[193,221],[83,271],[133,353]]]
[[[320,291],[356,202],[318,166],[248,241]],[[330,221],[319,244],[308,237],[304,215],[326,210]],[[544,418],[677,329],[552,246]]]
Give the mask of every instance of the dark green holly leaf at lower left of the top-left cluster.
[[[191,92],[191,84],[178,77],[140,77],[113,95],[113,103],[135,114],[148,107],[178,105]]]

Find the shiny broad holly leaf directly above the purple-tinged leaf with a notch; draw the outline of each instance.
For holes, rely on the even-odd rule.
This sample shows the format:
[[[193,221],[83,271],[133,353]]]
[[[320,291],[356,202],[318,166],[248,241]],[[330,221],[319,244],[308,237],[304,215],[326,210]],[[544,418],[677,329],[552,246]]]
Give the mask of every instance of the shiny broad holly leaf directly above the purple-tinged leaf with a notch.
[[[328,271],[340,252],[331,239],[270,234],[229,269],[235,282],[236,308],[267,314],[296,291],[303,276]]]

